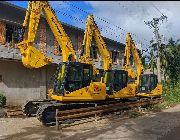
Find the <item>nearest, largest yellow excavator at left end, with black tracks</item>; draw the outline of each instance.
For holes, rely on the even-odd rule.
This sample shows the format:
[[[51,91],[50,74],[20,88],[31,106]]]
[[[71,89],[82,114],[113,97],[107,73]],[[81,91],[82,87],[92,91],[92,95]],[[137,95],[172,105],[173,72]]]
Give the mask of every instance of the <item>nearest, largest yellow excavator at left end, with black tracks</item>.
[[[86,106],[87,102],[105,100],[106,87],[102,82],[93,81],[93,65],[76,62],[72,43],[47,1],[30,1],[28,4],[23,23],[25,37],[18,44],[24,66],[40,68],[53,62],[52,58],[46,57],[33,46],[41,12],[44,13],[54,37],[61,47],[63,62],[57,66],[53,89],[48,90],[50,100],[29,101],[24,106],[24,113],[29,116],[37,113],[40,121],[46,124],[54,119],[54,116],[49,114],[54,113],[56,108],[65,109],[67,106],[71,106],[70,104],[65,105],[65,102],[71,102],[71,104],[79,102],[79,104],[76,103],[76,107],[80,107],[84,102],[83,106]]]

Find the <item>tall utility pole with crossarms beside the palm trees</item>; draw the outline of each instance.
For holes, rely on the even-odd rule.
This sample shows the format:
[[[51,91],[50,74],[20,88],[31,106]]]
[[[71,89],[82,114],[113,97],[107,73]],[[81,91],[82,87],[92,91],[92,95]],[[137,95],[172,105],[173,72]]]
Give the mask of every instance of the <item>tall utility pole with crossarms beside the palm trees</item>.
[[[145,22],[146,25],[148,25],[150,28],[153,27],[153,33],[156,38],[156,44],[157,44],[157,76],[158,76],[158,83],[161,83],[161,64],[160,64],[160,55],[159,55],[159,47],[161,46],[161,37],[159,35],[159,28],[158,24],[159,21],[162,21],[166,19],[167,16],[163,15],[160,18],[153,18],[153,20]]]

